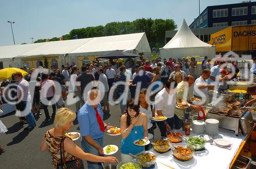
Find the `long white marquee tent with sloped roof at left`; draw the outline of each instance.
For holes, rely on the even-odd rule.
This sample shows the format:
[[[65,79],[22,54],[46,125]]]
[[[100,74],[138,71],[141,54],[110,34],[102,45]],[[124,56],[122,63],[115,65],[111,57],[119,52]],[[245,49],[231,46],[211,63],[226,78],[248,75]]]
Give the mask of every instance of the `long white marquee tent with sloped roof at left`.
[[[101,56],[115,50],[133,54],[143,53],[147,59],[151,57],[151,49],[145,33],[135,33],[0,46],[0,61],[3,61],[4,67],[20,67],[22,58],[58,56],[60,64],[65,64],[65,62],[77,62],[78,56]]]

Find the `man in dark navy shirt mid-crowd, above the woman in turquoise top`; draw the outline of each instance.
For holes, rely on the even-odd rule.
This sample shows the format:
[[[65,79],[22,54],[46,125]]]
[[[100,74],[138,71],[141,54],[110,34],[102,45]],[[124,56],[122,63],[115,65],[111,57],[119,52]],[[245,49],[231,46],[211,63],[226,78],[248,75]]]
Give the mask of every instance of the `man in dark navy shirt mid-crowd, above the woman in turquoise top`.
[[[147,88],[151,83],[150,77],[146,75],[145,68],[143,66],[139,67],[139,73],[135,75],[133,85],[137,84],[138,82],[141,82],[141,88]]]

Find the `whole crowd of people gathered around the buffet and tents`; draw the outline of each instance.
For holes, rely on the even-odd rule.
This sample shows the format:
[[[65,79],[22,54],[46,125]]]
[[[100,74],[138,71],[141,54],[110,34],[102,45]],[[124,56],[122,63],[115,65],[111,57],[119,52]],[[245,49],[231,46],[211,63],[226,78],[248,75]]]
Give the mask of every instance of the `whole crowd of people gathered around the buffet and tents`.
[[[41,115],[40,103],[45,100],[41,104],[45,120],[54,120],[54,128],[46,132],[40,150],[48,150],[51,153],[55,167],[60,163],[60,147],[56,145],[62,142],[65,131],[71,129],[77,116],[82,149],[70,139],[65,139],[63,145],[66,159],[73,160],[77,157],[87,160],[89,168],[101,168],[101,162],[117,161],[115,157],[101,157],[104,132],[113,127],[106,125],[102,120],[104,113],[110,113],[111,89],[114,89],[114,100],[119,100],[116,103],[120,103],[120,151],[124,160],[130,158],[129,153],[137,154],[144,151],[143,147],[135,146],[133,141],[141,138],[147,140],[148,133],[154,136],[156,125],[162,137],[166,137],[166,126],[171,129],[182,128],[184,112],[178,109],[176,104],[187,101],[189,87],[193,87],[194,83],[196,85],[193,88],[193,96],[203,100],[209,88],[223,90],[223,85],[219,85],[219,81],[238,78],[239,69],[236,68],[236,74],[230,78],[228,66],[222,66],[226,63],[225,60],[221,55],[218,58],[211,67],[211,60],[205,57],[201,64],[202,75],[199,77],[195,70],[199,66],[195,58],[191,58],[190,61],[187,58],[178,59],[177,62],[172,58],[161,62],[158,58],[152,63],[145,59],[136,62],[128,59],[124,65],[114,61],[100,65],[96,60],[94,64],[83,64],[81,70],[72,62],[71,66],[63,65],[62,69],[55,69],[56,67],[52,66],[48,74],[33,74],[33,68],[29,70],[27,77],[17,72],[13,74],[12,82],[8,84],[4,81],[1,87],[8,87],[11,83],[17,84],[17,92],[14,95],[21,100],[16,106],[17,110],[24,111],[27,103],[32,103],[32,108],[27,110],[25,117],[19,117],[21,124],[29,124],[27,130],[33,130],[36,126],[34,116]],[[232,64],[235,65],[235,62]],[[35,83],[34,90],[29,87],[31,83]],[[61,86],[60,92],[56,90],[57,85]],[[152,91],[148,92],[150,86]],[[136,94],[131,94],[131,87],[139,89],[138,98],[135,97]],[[33,99],[30,96],[31,92],[34,93]],[[55,95],[60,95],[57,102],[54,100]],[[69,95],[76,101],[76,112],[64,108],[63,100],[68,99]],[[52,116],[48,110],[50,105],[53,109]],[[57,108],[59,110],[56,112]],[[200,111],[200,107],[191,104],[187,111],[191,110]],[[153,116],[162,115],[167,117],[165,122],[151,123]]]

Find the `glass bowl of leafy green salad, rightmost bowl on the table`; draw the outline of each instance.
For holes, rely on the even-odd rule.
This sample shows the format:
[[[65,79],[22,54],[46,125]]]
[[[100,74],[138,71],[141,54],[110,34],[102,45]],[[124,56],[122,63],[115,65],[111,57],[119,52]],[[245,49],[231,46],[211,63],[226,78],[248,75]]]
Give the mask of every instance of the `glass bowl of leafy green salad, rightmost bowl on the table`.
[[[201,150],[204,148],[206,139],[200,135],[191,135],[186,138],[187,146],[195,149],[195,151]]]

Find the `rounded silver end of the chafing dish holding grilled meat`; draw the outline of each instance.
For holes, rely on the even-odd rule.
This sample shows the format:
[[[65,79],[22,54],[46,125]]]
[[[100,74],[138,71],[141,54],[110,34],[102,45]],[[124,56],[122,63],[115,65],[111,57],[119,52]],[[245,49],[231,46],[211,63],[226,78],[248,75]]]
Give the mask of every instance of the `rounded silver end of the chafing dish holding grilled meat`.
[[[253,118],[251,112],[247,111],[243,117],[240,118],[242,132],[244,134],[249,134],[254,126]]]

